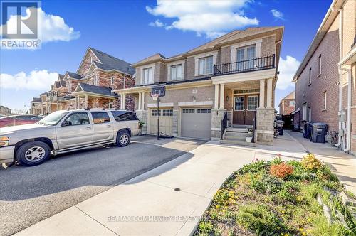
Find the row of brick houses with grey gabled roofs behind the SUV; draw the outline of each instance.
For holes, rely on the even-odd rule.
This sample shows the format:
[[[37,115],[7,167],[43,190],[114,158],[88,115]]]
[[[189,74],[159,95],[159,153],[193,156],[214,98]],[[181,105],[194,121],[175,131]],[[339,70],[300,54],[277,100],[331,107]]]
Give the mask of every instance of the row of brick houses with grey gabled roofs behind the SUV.
[[[120,97],[112,90],[133,87],[134,75],[130,63],[89,47],[76,73],[58,75],[51,90],[41,94],[41,114],[58,109],[120,107]],[[133,97],[125,97],[125,104],[133,110]]]

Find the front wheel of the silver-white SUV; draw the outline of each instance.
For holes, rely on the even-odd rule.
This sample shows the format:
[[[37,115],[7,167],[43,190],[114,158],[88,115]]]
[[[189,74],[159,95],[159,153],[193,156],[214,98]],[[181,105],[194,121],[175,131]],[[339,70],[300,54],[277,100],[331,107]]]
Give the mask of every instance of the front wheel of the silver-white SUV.
[[[17,149],[15,157],[21,166],[36,166],[46,161],[50,154],[48,144],[43,141],[30,141]]]

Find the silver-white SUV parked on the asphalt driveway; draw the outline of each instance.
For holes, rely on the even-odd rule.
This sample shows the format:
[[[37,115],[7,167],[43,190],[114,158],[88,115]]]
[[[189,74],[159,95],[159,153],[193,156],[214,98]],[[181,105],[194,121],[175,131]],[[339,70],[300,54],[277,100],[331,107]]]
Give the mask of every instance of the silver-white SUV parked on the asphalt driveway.
[[[36,124],[0,128],[0,163],[35,166],[50,154],[115,143],[127,146],[139,134],[135,113],[125,110],[56,111]]]

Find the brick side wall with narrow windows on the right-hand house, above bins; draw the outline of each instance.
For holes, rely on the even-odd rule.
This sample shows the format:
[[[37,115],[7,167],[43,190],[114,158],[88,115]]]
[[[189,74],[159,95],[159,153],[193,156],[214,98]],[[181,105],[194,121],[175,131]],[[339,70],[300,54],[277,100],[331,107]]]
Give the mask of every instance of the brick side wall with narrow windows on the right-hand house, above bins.
[[[314,55],[310,58],[295,85],[295,108],[300,109],[300,120],[303,119],[303,103],[311,107],[312,122],[325,122],[329,130],[338,129],[338,70],[339,36],[338,16],[326,33]],[[321,55],[321,75],[318,70],[318,58]],[[309,85],[309,68],[311,84]],[[323,109],[323,92],[327,92],[327,109]],[[307,119],[309,114],[306,115]]]

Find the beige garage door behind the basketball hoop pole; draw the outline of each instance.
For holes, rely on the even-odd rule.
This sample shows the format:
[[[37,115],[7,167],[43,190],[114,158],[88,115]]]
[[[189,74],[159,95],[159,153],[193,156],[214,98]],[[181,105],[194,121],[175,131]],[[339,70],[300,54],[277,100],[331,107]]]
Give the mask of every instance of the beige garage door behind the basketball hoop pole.
[[[173,109],[150,110],[150,134],[157,134],[157,114],[159,114],[159,132],[172,135]]]

